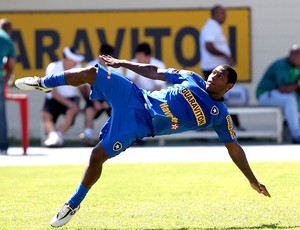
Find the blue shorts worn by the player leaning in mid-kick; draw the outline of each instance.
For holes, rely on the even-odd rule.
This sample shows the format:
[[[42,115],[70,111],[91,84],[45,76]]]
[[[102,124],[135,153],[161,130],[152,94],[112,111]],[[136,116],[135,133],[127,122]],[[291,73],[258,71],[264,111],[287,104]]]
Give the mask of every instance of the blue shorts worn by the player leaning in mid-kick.
[[[112,108],[112,115],[99,134],[110,158],[125,151],[137,139],[152,135],[152,117],[145,109],[141,89],[119,73],[98,65],[90,99],[104,100]]]

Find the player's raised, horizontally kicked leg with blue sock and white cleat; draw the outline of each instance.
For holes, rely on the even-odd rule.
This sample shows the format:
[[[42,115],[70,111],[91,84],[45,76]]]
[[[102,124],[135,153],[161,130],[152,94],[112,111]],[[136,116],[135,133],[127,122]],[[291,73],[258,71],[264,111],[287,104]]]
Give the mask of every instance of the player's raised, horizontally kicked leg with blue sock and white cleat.
[[[85,83],[93,85],[97,76],[97,67],[66,70],[45,77],[24,77],[17,79],[15,85],[21,90],[40,90],[48,93],[52,88],[62,85],[79,86]]]

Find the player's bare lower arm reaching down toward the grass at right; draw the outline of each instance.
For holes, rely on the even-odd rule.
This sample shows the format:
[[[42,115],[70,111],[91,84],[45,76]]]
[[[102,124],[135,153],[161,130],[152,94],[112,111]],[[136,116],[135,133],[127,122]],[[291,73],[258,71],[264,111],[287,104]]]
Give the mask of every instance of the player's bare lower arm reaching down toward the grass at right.
[[[261,193],[267,197],[271,197],[266,187],[259,183],[256,177],[254,176],[248,160],[246,158],[245,152],[238,142],[232,142],[225,144],[228,153],[236,164],[236,166],[243,172],[246,178],[249,180],[251,187],[256,190],[258,193]]]

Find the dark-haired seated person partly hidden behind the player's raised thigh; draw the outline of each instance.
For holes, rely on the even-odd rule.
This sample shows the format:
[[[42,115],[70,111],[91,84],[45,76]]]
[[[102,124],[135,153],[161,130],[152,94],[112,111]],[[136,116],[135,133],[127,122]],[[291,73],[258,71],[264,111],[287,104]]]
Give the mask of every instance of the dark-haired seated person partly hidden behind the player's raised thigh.
[[[113,56],[114,48],[109,44],[103,44],[99,49],[100,55],[110,55]],[[88,62],[86,66],[95,66],[98,63],[105,66],[103,60],[97,57],[96,59]],[[123,74],[123,68],[111,68],[106,67],[111,71]],[[86,146],[94,146],[95,135],[94,135],[94,120],[97,119],[103,112],[106,112],[108,116],[111,115],[111,108],[105,101],[100,100],[90,100],[90,85],[85,84],[80,87],[82,96],[86,101],[84,110],[84,131],[79,135],[80,139]]]

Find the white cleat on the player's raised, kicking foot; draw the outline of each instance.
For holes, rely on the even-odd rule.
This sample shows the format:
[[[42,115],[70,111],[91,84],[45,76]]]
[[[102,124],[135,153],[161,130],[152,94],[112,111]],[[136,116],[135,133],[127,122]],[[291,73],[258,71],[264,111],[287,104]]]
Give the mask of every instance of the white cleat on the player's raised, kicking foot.
[[[41,84],[42,78],[40,77],[24,77],[17,79],[15,81],[15,85],[17,88],[21,90],[40,90],[43,91],[44,93],[49,93],[52,88],[47,88],[42,86]]]

